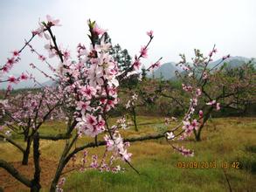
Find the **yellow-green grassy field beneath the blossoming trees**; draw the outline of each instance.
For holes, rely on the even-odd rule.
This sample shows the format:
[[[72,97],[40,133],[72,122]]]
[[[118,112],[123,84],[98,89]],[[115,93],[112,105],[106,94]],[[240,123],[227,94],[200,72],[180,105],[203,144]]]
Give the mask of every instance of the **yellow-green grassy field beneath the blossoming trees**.
[[[114,121],[114,120],[112,120]],[[156,123],[159,118],[140,117],[139,124]],[[64,124],[51,122],[42,127],[41,133],[59,133]],[[139,132],[131,127],[127,136],[156,133],[162,130],[163,124],[139,126]],[[232,191],[256,191],[256,118],[227,118],[214,119],[204,127],[203,141],[177,142],[184,147],[193,149],[194,157],[183,157],[172,150],[163,139],[157,141],[135,142],[129,147],[133,154],[132,164],[139,170],[140,175],[119,161],[124,172],[100,173],[86,170],[81,173],[73,171],[67,173],[65,191],[229,191],[229,180]],[[19,137],[16,138],[20,140]],[[88,139],[80,140],[80,145]],[[48,191],[50,177],[61,153],[64,141],[42,141],[40,150],[42,165],[43,191]],[[104,147],[91,148],[89,154],[102,155]],[[31,175],[33,170],[20,166],[17,160],[21,155],[7,143],[0,143],[0,158],[13,161],[14,166],[24,171],[24,175]],[[99,156],[100,156],[99,155]],[[183,162],[197,162],[201,166],[216,162],[217,168],[178,168]],[[233,168],[233,162],[239,163]],[[80,155],[77,164],[80,163]],[[221,168],[222,164],[228,168]],[[237,165],[236,164],[236,165]],[[72,169],[69,164],[66,170]],[[225,177],[226,173],[226,177]],[[15,182],[0,169],[0,186],[6,191],[26,191],[23,185]]]

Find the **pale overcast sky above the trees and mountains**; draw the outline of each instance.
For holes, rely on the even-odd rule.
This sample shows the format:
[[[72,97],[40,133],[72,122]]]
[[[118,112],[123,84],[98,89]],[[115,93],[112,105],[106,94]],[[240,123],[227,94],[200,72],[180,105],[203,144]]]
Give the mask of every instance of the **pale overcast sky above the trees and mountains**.
[[[20,49],[38,20],[47,14],[59,18],[61,27],[53,32],[63,47],[76,56],[79,43],[89,44],[86,21],[96,20],[107,29],[113,44],[137,54],[148,42],[146,31],[154,31],[149,46],[148,66],[163,57],[163,63],[180,60],[179,54],[193,56],[195,48],[204,54],[217,46],[216,59],[226,54],[256,58],[256,1],[255,0],[1,0],[0,1],[0,64],[10,57],[10,51]],[[37,38],[31,44],[46,54],[45,40]],[[21,62],[12,73],[31,72],[30,63],[47,71],[35,55],[25,50]],[[59,65],[52,60],[52,65]],[[35,72],[38,81],[45,78]]]

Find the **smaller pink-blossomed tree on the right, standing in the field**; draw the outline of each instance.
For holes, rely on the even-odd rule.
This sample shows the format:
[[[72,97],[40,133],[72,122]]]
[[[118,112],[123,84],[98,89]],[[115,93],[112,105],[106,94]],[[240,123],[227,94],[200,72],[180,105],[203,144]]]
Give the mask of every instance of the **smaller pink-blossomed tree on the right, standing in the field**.
[[[182,61],[177,65],[183,68],[183,72],[176,72],[176,76],[182,85],[180,88],[166,85],[160,92],[160,95],[172,99],[183,110],[186,108],[184,104],[188,102],[198,103],[195,110],[199,113],[200,125],[193,130],[196,141],[201,141],[203,127],[214,111],[218,112],[226,108],[245,110],[249,103],[255,102],[253,87],[256,86],[256,81],[253,65],[249,62],[236,68],[230,68],[226,64],[219,67],[220,64],[225,63],[226,58],[230,57],[228,55],[218,64],[210,67],[211,57],[215,52],[216,49],[213,48],[209,57],[204,57],[199,50],[195,50],[192,65],[186,61],[184,55],[181,55]],[[196,86],[197,92],[203,97],[201,102],[197,99],[190,100],[189,95],[193,92],[191,87]],[[179,91],[182,89],[186,94]]]

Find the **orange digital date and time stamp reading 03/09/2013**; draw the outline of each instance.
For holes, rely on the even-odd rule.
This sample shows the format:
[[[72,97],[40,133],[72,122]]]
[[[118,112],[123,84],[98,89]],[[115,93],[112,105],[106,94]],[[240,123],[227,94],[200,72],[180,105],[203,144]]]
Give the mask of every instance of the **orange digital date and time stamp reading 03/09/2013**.
[[[239,165],[237,161],[178,161],[176,163],[177,168],[239,168]]]

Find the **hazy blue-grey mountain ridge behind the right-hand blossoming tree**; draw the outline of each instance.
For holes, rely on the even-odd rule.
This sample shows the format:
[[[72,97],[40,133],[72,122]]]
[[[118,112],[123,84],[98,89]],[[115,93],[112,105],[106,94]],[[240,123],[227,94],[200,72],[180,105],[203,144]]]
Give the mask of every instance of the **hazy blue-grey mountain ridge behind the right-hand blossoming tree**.
[[[222,58],[219,58],[218,60],[211,62],[208,67],[212,68],[218,63],[220,63],[218,65],[218,67],[220,67],[226,63],[227,67],[234,68],[234,67],[244,65],[245,63],[248,63],[252,59],[253,59],[253,65],[256,67],[256,58],[245,58],[245,57],[239,57],[239,56],[227,58],[224,62],[221,62]],[[160,67],[158,67],[154,72],[151,72],[148,75],[148,77],[152,78],[154,74],[155,78],[161,78],[162,76],[163,79],[176,79],[175,71],[182,72],[183,70],[181,70],[179,67],[176,67],[175,62],[165,63]]]

